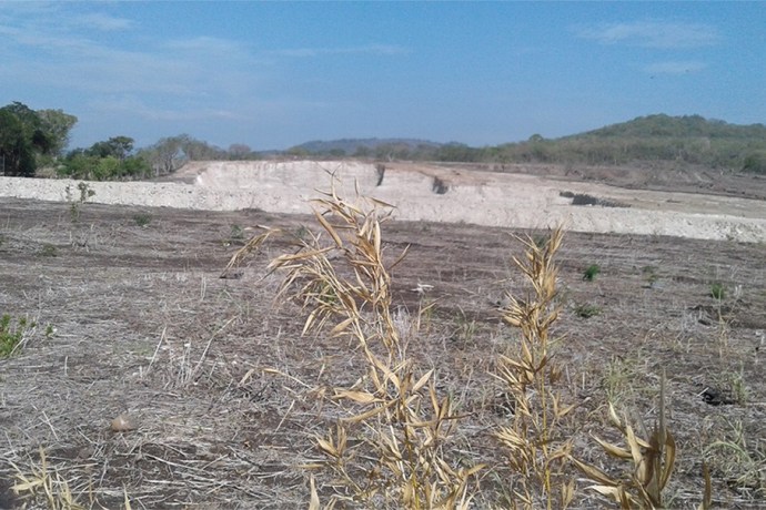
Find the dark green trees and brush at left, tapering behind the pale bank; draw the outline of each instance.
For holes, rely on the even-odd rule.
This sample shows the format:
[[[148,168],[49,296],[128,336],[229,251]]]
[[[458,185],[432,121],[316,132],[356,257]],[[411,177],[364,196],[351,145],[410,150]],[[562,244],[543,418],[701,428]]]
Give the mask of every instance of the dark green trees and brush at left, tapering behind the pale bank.
[[[224,150],[188,134],[142,149],[132,137],[118,135],[65,152],[77,122],[62,110],[36,111],[20,102],[0,108],[0,175],[138,180],[170,174],[188,161],[260,157],[245,144]]]

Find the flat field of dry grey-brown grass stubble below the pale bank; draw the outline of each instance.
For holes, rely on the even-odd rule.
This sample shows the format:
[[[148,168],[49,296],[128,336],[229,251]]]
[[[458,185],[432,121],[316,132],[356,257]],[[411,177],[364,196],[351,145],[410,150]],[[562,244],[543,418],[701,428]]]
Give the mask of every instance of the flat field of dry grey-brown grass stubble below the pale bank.
[[[359,226],[364,230],[373,204],[349,205],[362,213]],[[523,328],[507,327],[502,320],[507,307],[498,310],[500,299],[493,297],[503,285],[520,305],[537,300],[528,278],[508,263],[508,252],[528,261],[527,238],[516,249],[518,243],[508,243],[502,230],[386,223],[385,206],[377,207],[379,258],[387,278],[373,279],[385,283],[379,288],[387,287],[391,299],[379,298],[390,303],[389,318],[380,324],[357,282],[359,271],[372,294],[376,284],[363,273],[367,262],[355,269],[346,258],[369,259],[355,253],[356,227],[334,213],[323,218],[342,248],[315,217],[157,210],[151,226],[141,228],[133,208],[89,204],[83,222],[98,243],[83,251],[69,243],[65,204],[6,203],[0,232],[3,312],[33,316],[53,325],[56,334],[36,335],[0,360],[0,507],[22,504],[11,490],[17,478],[9,462],[29,477],[32,466],[40,466],[43,446],[49,473],[65,480],[84,508],[122,508],[125,494],[132,508],[286,509],[312,501],[320,507],[334,501],[335,508],[403,508],[406,484],[393,481],[412,466],[406,450],[377,453],[374,442],[390,445],[395,437],[401,443],[405,434],[414,442],[437,438],[433,450],[458,475],[486,466],[465,484],[465,500],[473,497],[473,508],[524,507],[515,494],[526,498],[524,483],[535,508],[545,507],[548,494],[557,507],[560,481],[572,479],[571,508],[618,507],[613,497],[587,490],[606,483],[583,479],[573,462],[548,463],[553,491],[546,493],[536,471],[527,477],[514,469],[510,450],[496,439],[497,431],[515,430],[522,421],[514,414],[517,397],[496,377],[504,366],[500,359],[525,358]],[[321,203],[318,211],[323,211]],[[282,232],[220,278],[232,256],[221,239],[229,238],[232,224],[269,224]],[[316,224],[314,236],[299,230],[304,224]],[[295,244],[290,232],[304,234],[309,247]],[[538,233],[530,234],[541,241]],[[375,245],[374,234],[364,239]],[[58,256],[40,256],[43,244],[57,246]],[[406,258],[392,272],[407,245]],[[335,288],[355,296],[349,306],[359,312],[359,327],[352,320],[335,332],[340,336],[329,334],[347,318],[341,308],[323,325],[322,316],[313,315],[302,335],[316,300],[293,298],[273,306],[281,280],[269,276],[268,264],[281,254],[315,248],[329,249],[337,282],[347,285]],[[560,379],[551,382],[548,377],[545,387],[560,395],[560,407],[576,406],[558,422],[547,414],[548,452],[573,440],[573,457],[619,482],[635,498],[632,506],[644,504],[643,484],[635,482],[651,477],[634,478],[644,468],[636,467],[623,430],[629,426],[641,441],[639,463],[645,463],[649,451],[642,445],[651,446],[652,424],[659,422],[666,369],[665,424],[675,440],[675,462],[662,503],[691,508],[708,499],[714,508],[758,508],[766,494],[762,255],[763,247],[734,243],[567,233],[555,254],[556,296],[538,317],[558,312],[547,333],[548,361],[542,374],[548,377],[555,366]],[[592,261],[603,272],[595,283],[583,282],[583,265]],[[646,286],[642,267],[649,265],[656,279]],[[714,276],[728,289],[742,286],[742,294],[710,297]],[[310,282],[296,278],[281,296],[296,297]],[[320,302],[339,306],[332,287],[309,288]],[[578,303],[592,303],[602,314],[581,318],[573,307]],[[726,318],[723,339],[718,309]],[[355,330],[365,335],[366,350],[379,364],[371,365]],[[399,344],[386,341],[389,330]],[[399,345],[393,354],[390,345]],[[385,388],[379,390],[375,377]],[[714,390],[740,391],[746,398],[716,400]],[[527,386],[527,399],[540,420],[534,415],[542,409],[540,390]],[[397,421],[400,401],[420,420],[410,428]],[[608,404],[622,428],[611,421]],[[353,421],[366,411],[374,412],[370,427]],[[440,421],[440,414],[455,419]],[[111,420],[122,415],[134,418],[137,427],[112,431]],[[533,427],[528,431],[528,438],[538,437]],[[594,437],[629,451],[631,458],[607,455]],[[420,457],[434,458],[431,446],[419,448]],[[363,497],[354,499],[355,489],[337,471],[330,450],[344,451],[342,469],[362,493],[377,491],[367,503]],[[534,451],[537,466],[544,467],[542,445]],[[437,483],[431,494],[450,494],[451,486],[436,470],[427,471],[425,465],[412,469]],[[431,496],[425,489],[420,494],[427,507]],[[38,497],[44,498],[43,492]],[[36,504],[47,506],[43,499]]]

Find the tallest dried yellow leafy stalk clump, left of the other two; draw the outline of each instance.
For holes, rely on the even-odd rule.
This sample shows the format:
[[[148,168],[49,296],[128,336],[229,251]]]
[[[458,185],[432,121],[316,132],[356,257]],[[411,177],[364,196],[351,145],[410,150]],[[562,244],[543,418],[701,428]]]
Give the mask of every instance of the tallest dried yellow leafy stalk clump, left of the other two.
[[[304,333],[332,324],[331,335],[355,343],[366,365],[353,387],[334,389],[342,418],[316,438],[333,486],[342,487],[330,506],[466,508],[468,479],[482,466],[466,468],[448,457],[444,447],[460,417],[451,398],[436,391],[434,369],[422,370],[409,357],[409,340],[392,315],[390,272],[404,257],[384,261],[381,224],[392,207],[372,198],[361,204],[341,198],[333,186],[314,201],[320,233],[270,265],[286,272],[280,295],[309,312]],[[312,492],[312,508],[319,508]]]

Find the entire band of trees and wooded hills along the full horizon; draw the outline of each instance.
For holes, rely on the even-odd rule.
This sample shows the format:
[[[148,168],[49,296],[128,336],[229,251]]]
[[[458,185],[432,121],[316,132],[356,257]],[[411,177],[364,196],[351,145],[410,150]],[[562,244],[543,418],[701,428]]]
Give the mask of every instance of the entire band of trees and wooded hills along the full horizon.
[[[244,144],[224,150],[188,134],[164,137],[142,149],[135,149],[132,137],[118,135],[64,153],[77,121],[77,116],[61,110],[34,111],[20,102],[0,108],[0,174],[134,180],[170,174],[188,161],[262,157]],[[343,142],[344,146],[353,146],[351,140]],[[766,174],[766,126],[734,125],[699,115],[648,115],[573,136],[545,139],[534,134],[523,142],[483,147],[454,142],[359,142],[353,152],[337,146],[311,150],[304,144],[270,155],[491,164],[624,165],[671,161]]]

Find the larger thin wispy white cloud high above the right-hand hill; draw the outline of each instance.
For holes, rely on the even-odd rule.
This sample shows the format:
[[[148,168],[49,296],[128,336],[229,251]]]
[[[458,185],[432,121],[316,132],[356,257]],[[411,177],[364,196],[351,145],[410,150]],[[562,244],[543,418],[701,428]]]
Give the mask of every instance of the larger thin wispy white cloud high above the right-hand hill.
[[[575,33],[604,44],[625,43],[656,49],[702,48],[720,41],[718,30],[710,24],[666,21],[604,23],[576,28]]]

